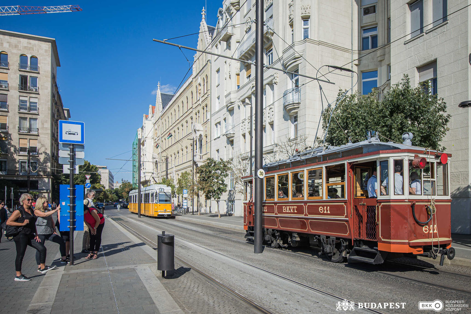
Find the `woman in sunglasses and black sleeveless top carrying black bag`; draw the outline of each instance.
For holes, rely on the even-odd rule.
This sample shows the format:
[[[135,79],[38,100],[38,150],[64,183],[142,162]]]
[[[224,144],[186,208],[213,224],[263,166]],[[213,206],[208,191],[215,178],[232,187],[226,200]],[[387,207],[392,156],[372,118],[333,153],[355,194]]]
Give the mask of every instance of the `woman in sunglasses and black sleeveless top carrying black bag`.
[[[24,254],[26,247],[29,245],[35,248],[39,252],[40,256],[40,269],[39,272],[46,273],[48,270],[56,268],[56,266],[46,266],[46,247],[40,242],[39,237],[36,235],[36,216],[32,209],[33,196],[28,193],[24,193],[20,196],[20,207],[13,211],[10,218],[6,221],[7,225],[21,227],[20,233],[18,233],[13,240],[16,245],[16,260],[15,270],[16,276],[15,281],[29,281],[28,277],[22,274],[21,265],[23,263]],[[47,214],[52,215],[55,211],[51,210]]]

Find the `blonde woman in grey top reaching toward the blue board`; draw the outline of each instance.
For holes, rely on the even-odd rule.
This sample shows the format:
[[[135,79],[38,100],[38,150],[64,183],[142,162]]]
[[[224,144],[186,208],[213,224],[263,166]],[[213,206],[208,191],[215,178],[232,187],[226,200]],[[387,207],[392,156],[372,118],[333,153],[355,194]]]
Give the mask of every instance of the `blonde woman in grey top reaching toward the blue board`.
[[[49,210],[49,202],[45,197],[40,197],[36,201],[36,207],[34,208],[34,214],[38,216],[36,219],[36,230],[38,231],[38,236],[40,242],[44,245],[46,240],[59,244],[60,262],[63,264],[67,263],[67,257],[65,253],[65,241],[57,234],[56,226],[54,225],[52,213],[58,212],[60,210],[56,207],[54,210]],[[36,263],[40,264],[40,255],[39,252],[36,252]]]

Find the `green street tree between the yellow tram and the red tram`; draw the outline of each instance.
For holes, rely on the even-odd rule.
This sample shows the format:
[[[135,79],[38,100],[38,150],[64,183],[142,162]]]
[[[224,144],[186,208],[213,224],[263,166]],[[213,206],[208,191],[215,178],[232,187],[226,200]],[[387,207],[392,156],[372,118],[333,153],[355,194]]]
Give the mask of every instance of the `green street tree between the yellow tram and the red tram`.
[[[206,200],[214,199],[219,202],[222,194],[227,191],[226,177],[231,170],[229,164],[229,161],[216,161],[210,157],[196,168],[198,189],[203,192]],[[218,216],[221,217],[219,211]]]

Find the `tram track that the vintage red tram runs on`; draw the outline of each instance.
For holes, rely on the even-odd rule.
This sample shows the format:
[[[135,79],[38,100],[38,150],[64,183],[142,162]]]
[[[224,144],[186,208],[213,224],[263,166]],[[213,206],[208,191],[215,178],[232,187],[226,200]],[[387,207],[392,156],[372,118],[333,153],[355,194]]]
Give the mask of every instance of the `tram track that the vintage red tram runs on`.
[[[131,218],[132,219],[132,218]],[[172,223],[173,224],[177,224],[181,227],[185,227],[187,229],[191,229],[191,230],[194,230],[194,231],[197,231],[197,232],[204,232],[204,230],[202,229],[198,229],[198,228],[194,228],[194,227],[188,227],[187,224],[184,224],[184,223],[176,223],[177,221],[173,221]],[[196,223],[197,224],[197,223]],[[231,232],[236,232],[236,231],[233,231],[233,230],[228,230],[228,229],[224,229],[223,227],[214,227],[213,228],[217,228],[217,229],[220,229],[221,231],[231,231]],[[240,233],[242,234],[242,233]],[[217,233],[218,236],[220,237],[224,237],[224,238],[228,238],[228,239],[231,239],[233,241],[237,241],[237,242],[240,242],[240,243],[249,243],[249,244],[252,244],[251,242],[248,242],[246,240],[241,240],[241,239],[237,239],[237,238],[234,238],[234,237],[231,237],[231,236],[227,236],[227,235],[224,235],[224,234],[221,234],[221,233]],[[319,259],[317,257],[313,257],[309,254],[304,254],[304,253],[300,253],[300,252],[293,252],[293,251],[290,251],[290,250],[286,250],[286,249],[272,249],[270,247],[265,247],[265,249],[270,249],[270,250],[276,250],[276,251],[281,251],[281,252],[284,252],[286,254],[294,254],[294,255],[300,255],[300,256],[303,256],[303,257],[306,257],[306,258],[311,258],[311,259],[315,259],[317,261],[319,260],[322,260],[322,259]],[[424,270],[424,269],[427,269],[427,270],[430,270],[430,271],[436,271],[436,272],[439,272],[439,273],[446,273],[446,274],[449,274],[449,275],[453,275],[453,276],[460,276],[460,277],[466,277],[466,278],[471,278],[470,275],[466,275],[466,274],[461,274],[461,273],[455,273],[455,272],[451,272],[451,271],[446,271],[446,270],[441,270],[441,269],[437,269],[437,268],[430,268],[430,267],[423,267],[423,266],[418,266],[418,265],[412,265],[412,264],[409,264],[409,263],[404,263],[404,262],[392,262],[392,261],[387,261],[385,262],[385,264],[392,264],[392,265],[400,265],[400,266],[407,266],[409,268],[415,268],[415,269],[418,269],[417,271],[419,270]],[[371,268],[368,268],[367,266],[362,266],[360,264],[355,264],[354,266],[352,266],[353,268],[355,269],[360,269],[360,270],[364,270],[364,271],[371,271]],[[448,286],[448,285],[443,285],[443,284],[435,284],[435,283],[431,283],[431,282],[427,282],[427,281],[423,281],[423,280],[418,280],[418,279],[412,279],[412,278],[408,278],[406,276],[402,276],[402,275],[397,275],[397,274],[392,274],[392,273],[389,273],[387,271],[382,271],[382,270],[375,270],[376,273],[378,274],[382,274],[384,276],[388,276],[388,277],[392,277],[392,278],[397,278],[397,279],[402,279],[402,280],[406,280],[408,282],[412,282],[414,284],[418,284],[418,285],[423,285],[423,286],[427,286],[427,287],[431,287],[431,288],[438,288],[438,289],[442,289],[442,290],[446,290],[446,291],[450,291],[450,292],[455,292],[455,293],[461,293],[461,294],[464,294],[464,295],[467,295],[467,296],[471,296],[471,291],[469,290],[464,290],[464,289],[457,289],[457,288],[454,288],[454,287],[451,287],[451,286]]]

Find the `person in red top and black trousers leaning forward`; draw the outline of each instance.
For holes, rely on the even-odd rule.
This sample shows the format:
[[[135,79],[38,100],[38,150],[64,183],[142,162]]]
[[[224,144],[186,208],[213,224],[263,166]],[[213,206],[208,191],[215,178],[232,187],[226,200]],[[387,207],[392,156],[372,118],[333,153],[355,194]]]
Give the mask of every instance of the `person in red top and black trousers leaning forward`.
[[[83,221],[88,227],[90,235],[90,254],[87,260],[98,259],[98,251],[102,242],[102,232],[105,227],[105,217],[94,207],[88,207],[88,200],[83,201]]]

